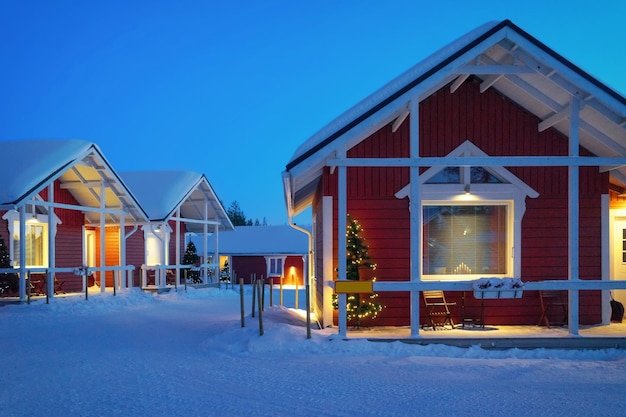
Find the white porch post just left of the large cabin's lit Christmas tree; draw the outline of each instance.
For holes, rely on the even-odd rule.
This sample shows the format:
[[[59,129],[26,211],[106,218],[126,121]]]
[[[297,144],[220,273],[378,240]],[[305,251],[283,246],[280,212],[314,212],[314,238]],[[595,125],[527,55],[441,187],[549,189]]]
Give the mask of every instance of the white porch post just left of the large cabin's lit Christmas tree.
[[[346,157],[345,150],[342,152],[341,158]],[[348,214],[347,189],[348,175],[346,167],[338,167],[337,169],[337,266],[339,281],[346,280],[346,217]],[[346,337],[348,327],[347,315],[347,294],[338,294],[338,324],[339,336]]]

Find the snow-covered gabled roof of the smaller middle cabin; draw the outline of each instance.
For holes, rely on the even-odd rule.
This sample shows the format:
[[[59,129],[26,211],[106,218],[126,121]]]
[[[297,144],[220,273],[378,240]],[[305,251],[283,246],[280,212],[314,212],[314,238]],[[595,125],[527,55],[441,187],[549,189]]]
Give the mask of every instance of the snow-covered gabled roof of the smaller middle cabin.
[[[180,207],[184,219],[218,221],[221,230],[232,230],[224,207],[204,174],[193,171],[121,172],[124,183],[148,213],[150,221],[165,221]],[[189,223],[190,231],[201,231],[199,223]]]

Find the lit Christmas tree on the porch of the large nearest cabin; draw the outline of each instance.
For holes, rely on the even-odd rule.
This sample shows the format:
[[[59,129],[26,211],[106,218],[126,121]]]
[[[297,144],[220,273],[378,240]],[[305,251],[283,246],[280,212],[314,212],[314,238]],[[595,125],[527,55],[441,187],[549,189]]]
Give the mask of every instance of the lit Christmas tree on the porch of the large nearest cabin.
[[[351,219],[348,215],[348,227],[346,231],[346,279],[361,281],[360,269],[369,268],[376,270],[376,264],[370,262],[369,247],[365,244],[365,239],[361,237],[363,228],[358,221]],[[369,278],[376,281],[376,277]],[[348,294],[346,310],[348,322],[354,321],[356,327],[361,326],[364,318],[375,319],[384,306],[376,301],[378,294]],[[338,297],[333,295],[333,307],[338,308]]]

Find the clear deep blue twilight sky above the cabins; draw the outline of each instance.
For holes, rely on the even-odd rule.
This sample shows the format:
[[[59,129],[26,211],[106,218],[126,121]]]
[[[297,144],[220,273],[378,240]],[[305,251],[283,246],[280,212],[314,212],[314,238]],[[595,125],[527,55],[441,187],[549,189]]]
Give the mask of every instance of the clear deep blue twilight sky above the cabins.
[[[0,0],[0,140],[202,172],[226,208],[284,224],[280,174],[302,142],[503,19],[626,95],[623,0]]]

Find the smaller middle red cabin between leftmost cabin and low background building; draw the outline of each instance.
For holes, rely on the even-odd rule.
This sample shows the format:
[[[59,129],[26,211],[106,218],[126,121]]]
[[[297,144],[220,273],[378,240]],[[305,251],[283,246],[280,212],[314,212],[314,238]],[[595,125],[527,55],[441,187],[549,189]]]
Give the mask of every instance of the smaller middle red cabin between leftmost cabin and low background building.
[[[121,178],[148,213],[127,244],[127,261],[136,267],[135,285],[145,289],[181,285],[185,236],[211,235],[219,253],[221,232],[234,227],[205,175],[191,171],[122,172]],[[129,233],[129,232],[127,232]],[[111,246],[111,251],[116,248]],[[203,259],[208,259],[206,253]],[[218,265],[194,265],[203,283],[217,282]]]

